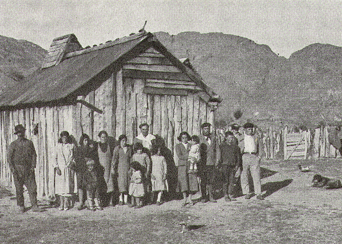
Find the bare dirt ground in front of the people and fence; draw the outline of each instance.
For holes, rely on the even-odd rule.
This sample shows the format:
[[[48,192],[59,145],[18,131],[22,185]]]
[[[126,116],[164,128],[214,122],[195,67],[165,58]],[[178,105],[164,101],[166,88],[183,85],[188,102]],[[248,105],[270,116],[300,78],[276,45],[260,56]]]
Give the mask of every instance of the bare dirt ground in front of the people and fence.
[[[300,172],[297,163],[312,165],[311,172]],[[261,167],[264,201],[220,198],[191,207],[174,200],[64,212],[42,202],[46,211],[18,214],[15,198],[0,188],[0,243],[342,243],[342,189],[309,187],[315,173],[341,177],[342,161],[268,161]]]

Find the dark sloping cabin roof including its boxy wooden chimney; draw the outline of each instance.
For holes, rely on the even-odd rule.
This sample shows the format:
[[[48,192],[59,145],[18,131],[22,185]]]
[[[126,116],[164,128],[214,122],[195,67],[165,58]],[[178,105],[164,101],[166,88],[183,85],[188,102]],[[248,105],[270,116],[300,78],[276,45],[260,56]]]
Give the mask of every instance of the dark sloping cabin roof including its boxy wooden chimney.
[[[77,44],[77,38],[73,34],[55,39],[54,42],[51,46],[60,45],[59,54],[53,53],[54,50],[50,49],[42,69],[20,84],[7,89],[0,96],[0,110],[75,101],[77,96],[85,96],[91,90],[97,89],[112,72],[121,67],[122,63],[137,57],[150,46],[163,53],[173,65],[188,74],[213,101],[221,102],[196,72],[175,58],[149,32],[139,32],[78,51],[75,49],[80,49],[81,45]]]

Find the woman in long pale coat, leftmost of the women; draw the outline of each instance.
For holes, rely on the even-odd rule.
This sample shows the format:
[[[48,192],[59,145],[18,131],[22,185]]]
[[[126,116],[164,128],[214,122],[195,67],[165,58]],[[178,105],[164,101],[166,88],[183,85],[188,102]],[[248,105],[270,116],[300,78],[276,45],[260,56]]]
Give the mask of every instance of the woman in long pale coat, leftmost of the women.
[[[68,202],[75,190],[74,177],[72,170],[74,166],[74,144],[67,131],[61,132],[56,149],[56,194],[60,196],[60,210],[68,210]]]

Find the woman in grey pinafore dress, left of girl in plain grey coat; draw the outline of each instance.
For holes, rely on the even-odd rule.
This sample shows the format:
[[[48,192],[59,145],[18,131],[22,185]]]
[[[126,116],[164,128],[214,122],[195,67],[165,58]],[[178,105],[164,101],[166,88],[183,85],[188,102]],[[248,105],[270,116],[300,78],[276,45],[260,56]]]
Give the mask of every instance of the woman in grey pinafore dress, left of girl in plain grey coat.
[[[111,160],[113,157],[112,147],[108,140],[108,134],[106,131],[100,131],[98,134],[100,138],[100,142],[97,145],[97,153],[99,157],[99,167],[100,169],[100,179],[102,179],[102,183],[100,183],[100,199],[101,203],[107,203],[109,205],[114,205],[114,182],[113,176],[110,173],[111,168]]]

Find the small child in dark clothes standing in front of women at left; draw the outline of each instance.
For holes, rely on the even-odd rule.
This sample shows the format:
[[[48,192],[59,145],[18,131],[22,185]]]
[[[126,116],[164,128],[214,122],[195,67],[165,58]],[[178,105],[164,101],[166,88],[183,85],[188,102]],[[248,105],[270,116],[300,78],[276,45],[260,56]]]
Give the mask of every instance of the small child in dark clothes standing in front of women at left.
[[[83,175],[83,183],[85,184],[86,197],[88,199],[89,209],[91,211],[103,210],[99,201],[99,181],[95,170],[95,162],[92,159],[85,158],[87,170]],[[93,200],[95,206],[93,204]]]

